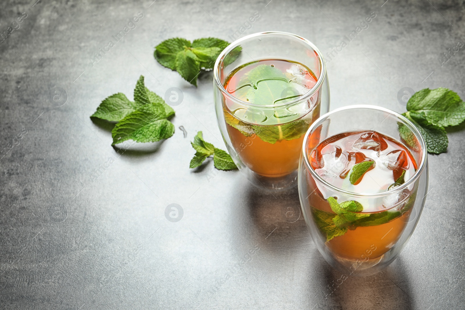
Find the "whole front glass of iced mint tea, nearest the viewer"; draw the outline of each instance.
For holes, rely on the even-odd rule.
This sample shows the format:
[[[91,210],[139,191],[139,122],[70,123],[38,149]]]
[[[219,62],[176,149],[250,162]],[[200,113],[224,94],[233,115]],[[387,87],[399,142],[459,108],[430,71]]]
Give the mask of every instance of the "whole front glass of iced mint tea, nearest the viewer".
[[[312,239],[334,268],[371,275],[412,235],[428,187],[425,140],[378,106],[326,113],[305,135],[299,197]]]

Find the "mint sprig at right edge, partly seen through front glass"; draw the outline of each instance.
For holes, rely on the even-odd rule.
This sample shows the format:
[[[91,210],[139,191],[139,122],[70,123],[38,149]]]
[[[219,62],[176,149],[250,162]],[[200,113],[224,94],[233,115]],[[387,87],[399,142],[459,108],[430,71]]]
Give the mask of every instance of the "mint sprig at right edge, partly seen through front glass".
[[[447,151],[449,143],[444,128],[459,125],[465,120],[465,103],[456,92],[447,88],[425,88],[409,99],[407,112],[402,115],[417,126],[425,138],[428,152],[440,154]],[[415,144],[404,125],[399,124],[399,132],[407,144],[409,141]]]

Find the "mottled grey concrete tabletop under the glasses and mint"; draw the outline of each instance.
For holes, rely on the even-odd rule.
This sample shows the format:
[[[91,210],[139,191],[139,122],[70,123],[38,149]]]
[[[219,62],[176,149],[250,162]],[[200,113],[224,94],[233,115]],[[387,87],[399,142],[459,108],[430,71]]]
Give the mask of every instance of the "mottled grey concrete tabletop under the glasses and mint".
[[[465,41],[463,1],[268,1],[1,1],[0,32],[17,28],[0,43],[1,309],[463,309],[464,130],[451,130],[447,153],[430,155],[425,209],[396,261],[327,296],[341,275],[303,218],[286,218],[288,207],[299,214],[296,190],[272,197],[210,160],[189,170],[197,131],[224,147],[212,74],[195,88],[153,59],[153,46],[174,36],[231,40],[258,12],[243,35],[297,33],[325,54],[346,40],[328,59],[332,109],[404,112],[403,87],[465,97],[465,51],[447,62],[443,54]],[[124,39],[90,60],[139,12]],[[161,96],[182,90],[177,129],[119,156],[111,126],[89,116],[115,92],[132,99],[140,74]],[[55,87],[66,92],[58,102]],[[174,223],[165,217],[173,203],[183,209]]]

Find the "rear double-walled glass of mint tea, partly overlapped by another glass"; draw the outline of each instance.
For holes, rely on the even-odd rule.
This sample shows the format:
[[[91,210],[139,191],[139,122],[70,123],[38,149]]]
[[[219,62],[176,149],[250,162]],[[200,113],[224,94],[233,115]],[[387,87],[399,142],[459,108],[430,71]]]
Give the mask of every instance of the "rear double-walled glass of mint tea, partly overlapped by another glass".
[[[264,92],[260,92],[261,104],[256,104],[238,99],[227,90],[228,80],[239,68],[265,60],[271,66],[280,60],[305,66],[312,72],[315,84],[305,93],[287,87],[278,100],[266,104]],[[319,50],[295,34],[255,33],[227,46],[213,70],[219,129],[239,170],[252,184],[268,190],[297,185],[305,132],[329,109],[326,66]],[[252,86],[256,89],[257,85]]]

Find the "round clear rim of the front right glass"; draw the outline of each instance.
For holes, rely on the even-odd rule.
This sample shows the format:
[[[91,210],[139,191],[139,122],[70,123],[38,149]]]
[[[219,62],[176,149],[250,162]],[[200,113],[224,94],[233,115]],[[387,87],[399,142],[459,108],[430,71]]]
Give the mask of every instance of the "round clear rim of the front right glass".
[[[415,171],[415,173],[413,174],[412,178],[408,179],[404,184],[400,185],[400,186],[396,186],[395,188],[391,189],[391,190],[387,190],[387,191],[384,191],[384,192],[381,192],[381,193],[355,193],[355,192],[352,192],[352,191],[345,191],[343,189],[340,189],[330,183],[328,183],[326,180],[324,180],[323,178],[321,178],[319,176],[318,173],[316,173],[315,170],[313,170],[312,168],[312,165],[310,164],[309,162],[309,159],[308,157],[306,156],[306,150],[307,150],[307,145],[308,145],[308,138],[310,137],[310,133],[316,128],[318,127],[319,125],[321,125],[321,123],[323,122],[323,120],[327,119],[328,116],[330,116],[331,114],[335,113],[335,112],[340,112],[340,111],[344,111],[344,110],[350,110],[350,109],[360,109],[360,108],[365,108],[365,109],[372,109],[372,110],[378,110],[378,111],[383,111],[383,112],[388,112],[394,116],[396,116],[397,118],[401,119],[402,121],[404,121],[404,123],[412,130],[412,132],[414,132],[416,138],[419,140],[419,144],[420,144],[420,148],[421,148],[421,151],[422,151],[422,154],[421,154],[421,160],[420,160],[420,163],[418,165],[418,168],[417,168],[417,171]],[[356,196],[356,197],[376,197],[376,196],[379,196],[379,197],[382,197],[382,196],[387,196],[387,195],[390,195],[392,194],[392,192],[394,191],[401,191],[405,188],[407,188],[409,185],[411,185],[412,183],[414,183],[421,175],[423,169],[425,168],[425,165],[426,165],[426,158],[427,158],[427,154],[428,154],[428,151],[426,150],[426,142],[425,142],[425,139],[423,138],[423,135],[421,134],[421,132],[418,130],[417,126],[415,126],[409,119],[407,119],[405,116],[403,116],[402,114],[399,114],[397,112],[394,112],[390,109],[387,109],[387,108],[384,108],[384,107],[381,107],[381,106],[372,106],[372,105],[352,105],[352,106],[344,106],[344,107],[341,107],[341,108],[338,108],[338,109],[335,109],[335,110],[332,110],[331,112],[327,112],[326,114],[323,114],[322,116],[320,116],[316,121],[313,122],[312,125],[310,125],[310,127],[308,128],[307,132],[305,133],[305,138],[304,138],[304,142],[302,144],[302,156],[304,158],[304,161],[305,161],[305,165],[306,165],[306,168],[307,170],[310,171],[310,174],[316,178],[319,182],[321,182],[323,185],[325,186],[328,186],[330,187],[332,190],[334,191],[337,191],[337,192],[340,192],[340,193],[343,193],[343,194],[346,194],[346,195],[349,195],[349,196]]]

